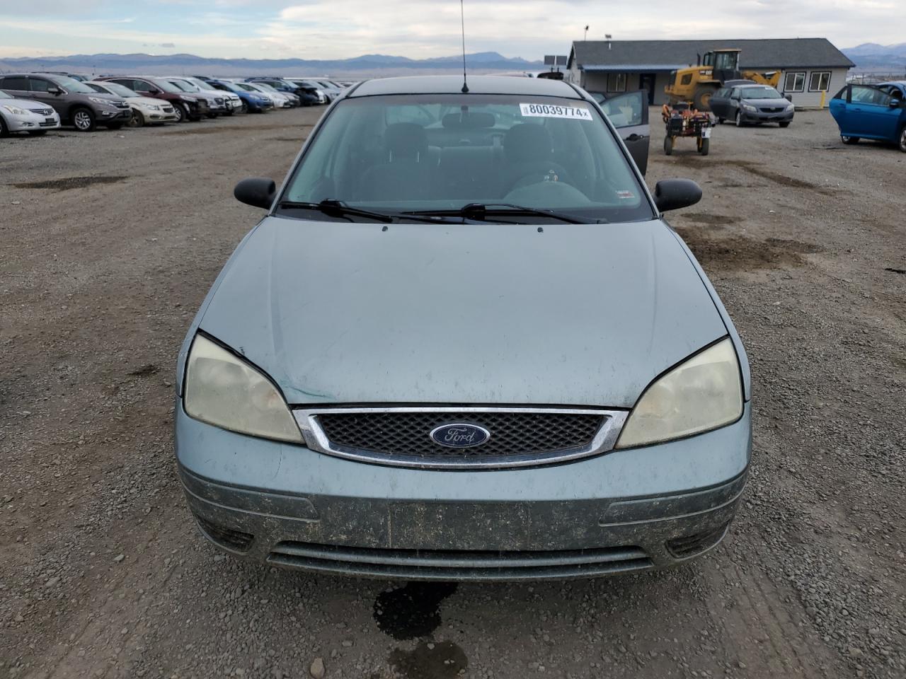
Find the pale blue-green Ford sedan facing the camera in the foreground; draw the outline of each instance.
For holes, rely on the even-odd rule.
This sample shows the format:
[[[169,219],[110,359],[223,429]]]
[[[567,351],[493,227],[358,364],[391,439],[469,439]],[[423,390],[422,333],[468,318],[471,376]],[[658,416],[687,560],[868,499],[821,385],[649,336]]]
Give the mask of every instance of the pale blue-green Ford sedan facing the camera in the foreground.
[[[747,480],[746,352],[617,129],[562,81],[345,91],[178,359],[176,454],[218,548],[390,579],[665,567]]]

